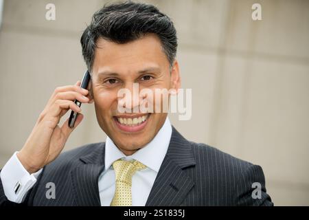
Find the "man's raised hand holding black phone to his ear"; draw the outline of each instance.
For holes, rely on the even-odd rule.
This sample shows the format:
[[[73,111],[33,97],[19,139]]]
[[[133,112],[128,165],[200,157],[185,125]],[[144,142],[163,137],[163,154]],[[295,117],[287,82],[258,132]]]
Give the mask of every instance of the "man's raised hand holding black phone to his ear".
[[[89,91],[79,86],[80,81],[76,85],[57,87],[38,117],[32,133],[17,154],[21,164],[29,173],[35,173],[46,164],[54,161],[64,148],[73,129],[82,121],[83,115],[74,100],[77,99],[82,103],[90,103],[92,100],[88,96]],[[61,127],[58,126],[60,118],[69,109],[79,113],[73,129],[69,128],[69,119]]]

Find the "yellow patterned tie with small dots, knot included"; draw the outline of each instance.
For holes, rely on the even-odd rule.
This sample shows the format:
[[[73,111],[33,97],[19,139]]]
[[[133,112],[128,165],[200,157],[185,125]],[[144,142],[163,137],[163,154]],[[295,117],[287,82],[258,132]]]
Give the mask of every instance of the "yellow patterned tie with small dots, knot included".
[[[118,159],[113,162],[116,175],[116,190],[111,206],[132,206],[132,177],[137,170],[146,168],[144,164]]]

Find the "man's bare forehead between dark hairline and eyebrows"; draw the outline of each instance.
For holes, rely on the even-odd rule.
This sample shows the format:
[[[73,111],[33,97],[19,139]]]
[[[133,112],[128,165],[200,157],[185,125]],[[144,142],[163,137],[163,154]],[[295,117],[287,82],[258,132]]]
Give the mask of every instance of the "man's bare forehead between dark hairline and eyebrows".
[[[162,50],[161,42],[155,34],[144,36],[132,42],[118,44],[106,39],[98,40],[95,51],[93,72],[111,74],[124,72],[131,68],[134,72],[159,72],[169,65],[168,58]]]

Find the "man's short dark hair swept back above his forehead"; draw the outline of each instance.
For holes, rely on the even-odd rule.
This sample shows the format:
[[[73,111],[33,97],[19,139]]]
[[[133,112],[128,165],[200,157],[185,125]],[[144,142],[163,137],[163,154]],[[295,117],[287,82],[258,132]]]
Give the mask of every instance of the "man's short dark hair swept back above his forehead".
[[[163,52],[172,67],[176,57],[177,37],[174,24],[167,15],[161,13],[154,5],[145,3],[126,1],[104,5],[93,14],[91,24],[84,30],[80,39],[82,56],[89,72],[93,67],[98,38],[102,37],[115,43],[128,43],[148,33],[159,36]]]

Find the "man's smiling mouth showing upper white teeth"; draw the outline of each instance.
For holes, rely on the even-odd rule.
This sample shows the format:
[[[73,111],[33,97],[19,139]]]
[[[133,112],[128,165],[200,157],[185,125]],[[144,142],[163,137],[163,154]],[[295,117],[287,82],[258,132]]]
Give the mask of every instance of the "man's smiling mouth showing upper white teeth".
[[[139,115],[117,115],[114,116],[117,127],[125,132],[137,132],[144,129],[148,122],[150,113]]]

